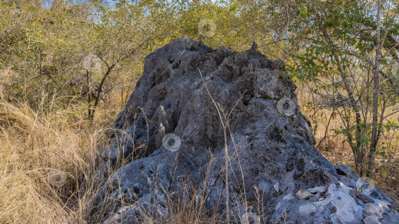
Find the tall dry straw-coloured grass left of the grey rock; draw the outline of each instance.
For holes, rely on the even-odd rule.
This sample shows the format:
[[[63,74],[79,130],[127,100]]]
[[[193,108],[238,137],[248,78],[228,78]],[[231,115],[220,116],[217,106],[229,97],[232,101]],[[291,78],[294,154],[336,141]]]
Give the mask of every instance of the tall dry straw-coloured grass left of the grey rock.
[[[92,125],[76,112],[0,101],[0,223],[81,222],[78,183],[111,122]],[[66,173],[64,186],[49,183],[52,169]]]

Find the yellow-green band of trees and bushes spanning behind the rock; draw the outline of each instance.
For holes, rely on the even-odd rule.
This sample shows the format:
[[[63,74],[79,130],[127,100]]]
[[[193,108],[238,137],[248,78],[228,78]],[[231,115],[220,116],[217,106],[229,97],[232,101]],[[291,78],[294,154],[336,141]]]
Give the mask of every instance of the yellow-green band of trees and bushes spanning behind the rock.
[[[123,107],[141,75],[144,56],[179,36],[236,51],[249,49],[255,40],[266,56],[286,62],[282,75],[311,83],[317,95],[353,99],[343,108],[328,109],[342,123],[336,134],[345,135],[356,154],[374,147],[373,130],[386,136],[398,129],[383,115],[394,114],[399,100],[398,69],[392,67],[399,61],[398,3],[382,4],[379,32],[387,38],[378,59],[377,5],[369,0],[2,1],[0,88],[9,101],[24,99],[37,109],[50,107],[42,99],[56,99],[51,107],[83,106],[93,117],[111,93],[120,96]],[[215,24],[212,35],[200,33],[204,19]],[[370,119],[376,64],[381,67],[377,123]],[[307,107],[316,111],[309,101]]]

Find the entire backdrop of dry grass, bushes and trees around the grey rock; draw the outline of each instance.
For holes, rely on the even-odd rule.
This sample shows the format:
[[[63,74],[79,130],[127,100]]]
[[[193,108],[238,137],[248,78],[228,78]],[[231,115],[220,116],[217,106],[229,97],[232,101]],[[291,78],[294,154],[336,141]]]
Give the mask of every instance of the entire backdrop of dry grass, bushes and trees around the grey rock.
[[[298,86],[300,109],[312,121],[316,146],[332,163],[358,173],[367,170],[376,92],[377,118],[382,110],[393,114],[374,126],[383,131],[373,180],[399,202],[397,5],[367,0],[0,0],[0,223],[86,223],[88,201],[98,190],[91,170],[141,75],[144,56],[181,35],[236,51],[249,49],[256,40],[266,56],[286,61],[287,75]],[[382,31],[376,26],[378,10],[384,15]],[[330,42],[323,37],[317,11],[324,13]],[[205,18],[215,22],[214,35],[199,33]],[[388,28],[378,60],[376,34],[383,37]],[[344,73],[359,99],[361,124],[355,122],[355,107],[332,110],[323,103],[327,92],[348,97],[340,64],[358,71]],[[339,115],[344,112],[349,115]],[[362,127],[363,134],[356,137],[354,127]],[[349,137],[361,142],[358,148],[366,153],[360,164]],[[48,181],[52,169],[66,173],[60,188]],[[82,195],[84,176],[90,181]],[[170,205],[176,217],[170,222],[201,223],[205,215],[191,206]]]

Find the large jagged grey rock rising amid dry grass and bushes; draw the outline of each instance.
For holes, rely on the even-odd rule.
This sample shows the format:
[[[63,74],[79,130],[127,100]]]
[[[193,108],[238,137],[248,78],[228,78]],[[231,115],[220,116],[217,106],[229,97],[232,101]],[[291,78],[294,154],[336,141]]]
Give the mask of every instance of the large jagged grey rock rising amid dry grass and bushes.
[[[173,223],[170,204],[176,197],[226,217],[223,127],[197,68],[223,113],[246,90],[228,129],[231,223],[245,223],[247,212],[261,223],[362,224],[369,215],[382,224],[398,223],[391,197],[379,189],[369,196],[359,192],[352,169],[333,165],[314,148],[296,86],[280,72],[282,61],[267,59],[256,43],[234,52],[186,37],[145,57],[144,72],[116,120],[113,143],[96,169],[102,187],[89,221]],[[282,98],[294,101],[293,115],[276,109]],[[163,146],[168,133],[181,140],[177,151]],[[121,166],[120,159],[129,163]],[[299,200],[298,192],[306,192],[306,199]]]

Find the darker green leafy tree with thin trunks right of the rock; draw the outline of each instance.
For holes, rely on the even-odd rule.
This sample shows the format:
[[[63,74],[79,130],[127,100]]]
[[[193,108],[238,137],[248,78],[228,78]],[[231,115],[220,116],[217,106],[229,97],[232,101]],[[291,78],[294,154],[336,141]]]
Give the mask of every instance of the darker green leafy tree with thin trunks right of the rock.
[[[397,14],[398,2],[393,5],[386,2],[381,6],[384,19],[380,37],[389,30],[388,38],[382,39],[384,42],[381,43],[382,59],[376,57],[377,17],[373,2],[319,1],[314,3],[309,13],[307,8],[313,7],[310,4],[304,2],[300,5],[299,18],[289,26],[288,39],[300,50],[290,54],[295,63],[290,64],[288,73],[299,81],[314,83],[313,91],[317,94],[328,92],[338,96],[343,93],[352,98],[349,105],[342,109],[332,109],[339,113],[344,124],[335,133],[347,137],[355,158],[359,159],[359,168],[363,166],[365,148],[370,152],[375,147],[381,148],[384,142],[378,142],[379,137],[398,129],[394,122],[387,121],[384,116],[389,107],[394,107],[394,113],[398,111],[395,105],[399,101],[399,83],[390,74],[392,62],[398,60],[395,50],[399,37],[398,23],[392,17]],[[391,18],[394,21],[392,28],[389,27]],[[377,65],[381,66],[380,72],[377,72],[379,89],[372,84]],[[373,95],[375,92],[379,94]],[[373,104],[374,98],[377,105]],[[378,112],[378,123],[370,119],[374,116],[372,108]],[[375,139],[373,130],[377,133]]]

